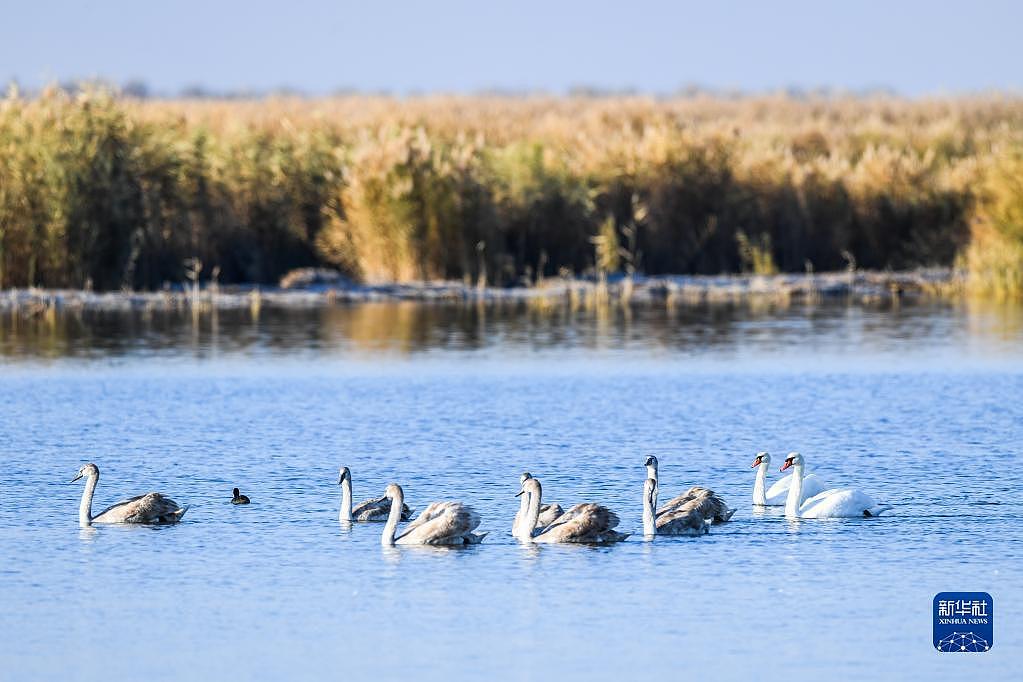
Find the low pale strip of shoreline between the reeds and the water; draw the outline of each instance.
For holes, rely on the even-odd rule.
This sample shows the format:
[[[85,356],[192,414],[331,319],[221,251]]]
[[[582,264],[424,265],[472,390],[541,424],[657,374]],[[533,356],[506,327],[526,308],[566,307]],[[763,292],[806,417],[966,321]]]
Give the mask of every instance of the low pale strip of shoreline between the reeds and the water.
[[[389,284],[312,283],[176,285],[160,291],[15,288],[0,291],[0,311],[48,312],[302,309],[359,303],[525,303],[535,305],[737,305],[750,302],[841,301],[876,304],[941,298],[962,288],[965,274],[948,268],[903,272],[827,272],[779,275],[611,276],[605,281],[546,279],[533,286],[478,287],[457,281]]]

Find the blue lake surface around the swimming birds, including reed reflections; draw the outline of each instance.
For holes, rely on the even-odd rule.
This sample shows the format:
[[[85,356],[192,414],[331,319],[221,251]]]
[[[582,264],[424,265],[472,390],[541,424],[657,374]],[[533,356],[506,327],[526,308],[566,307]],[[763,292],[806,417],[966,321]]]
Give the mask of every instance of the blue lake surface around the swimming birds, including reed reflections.
[[[1018,679],[1018,308],[5,315],[0,377],[3,679]],[[758,450],[893,509],[754,511]],[[650,454],[732,521],[509,536],[523,470],[639,533]],[[159,490],[184,521],[79,529],[84,461],[96,510]],[[338,522],[342,464],[356,501],[399,482],[490,535],[383,548]],[[939,591],[991,593],[989,652],[933,649]]]

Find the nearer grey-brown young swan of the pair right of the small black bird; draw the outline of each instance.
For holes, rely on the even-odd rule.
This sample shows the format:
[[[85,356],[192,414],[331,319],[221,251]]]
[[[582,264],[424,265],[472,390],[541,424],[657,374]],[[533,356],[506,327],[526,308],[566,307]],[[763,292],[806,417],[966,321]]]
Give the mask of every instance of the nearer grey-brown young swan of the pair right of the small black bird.
[[[461,502],[433,502],[400,535],[395,535],[405,492],[393,483],[384,497],[391,500],[391,511],[381,536],[384,545],[477,545],[487,535],[473,533],[480,525],[480,515]]]

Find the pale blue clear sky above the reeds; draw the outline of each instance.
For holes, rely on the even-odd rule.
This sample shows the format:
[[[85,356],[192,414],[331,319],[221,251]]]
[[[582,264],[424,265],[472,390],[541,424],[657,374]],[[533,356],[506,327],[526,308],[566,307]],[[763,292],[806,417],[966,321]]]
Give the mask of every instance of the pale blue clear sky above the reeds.
[[[312,94],[575,86],[1023,91],[1023,2],[32,0],[0,80]]]

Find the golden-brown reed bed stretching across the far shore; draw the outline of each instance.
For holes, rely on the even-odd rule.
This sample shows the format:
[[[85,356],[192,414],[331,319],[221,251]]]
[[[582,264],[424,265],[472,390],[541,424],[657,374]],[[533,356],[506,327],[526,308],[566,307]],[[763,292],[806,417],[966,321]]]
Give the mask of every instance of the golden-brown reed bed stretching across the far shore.
[[[952,266],[1023,290],[1023,100],[0,103],[0,287]]]

